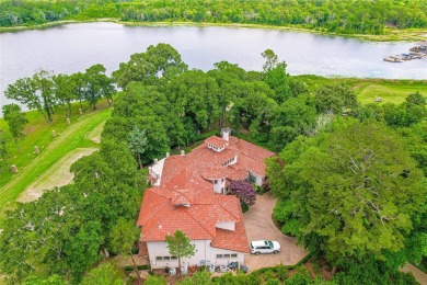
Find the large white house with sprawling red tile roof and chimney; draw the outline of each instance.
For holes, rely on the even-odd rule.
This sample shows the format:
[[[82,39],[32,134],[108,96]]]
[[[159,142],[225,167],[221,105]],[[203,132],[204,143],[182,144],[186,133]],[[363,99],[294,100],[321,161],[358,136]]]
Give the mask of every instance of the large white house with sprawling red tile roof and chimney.
[[[152,269],[176,267],[165,237],[185,232],[196,246],[194,256],[182,264],[227,265],[243,263],[249,253],[240,200],[227,195],[230,181],[249,180],[262,185],[266,158],[275,153],[231,136],[211,136],[189,153],[169,156],[149,169],[152,187],[145,193],[139,213],[140,254]]]

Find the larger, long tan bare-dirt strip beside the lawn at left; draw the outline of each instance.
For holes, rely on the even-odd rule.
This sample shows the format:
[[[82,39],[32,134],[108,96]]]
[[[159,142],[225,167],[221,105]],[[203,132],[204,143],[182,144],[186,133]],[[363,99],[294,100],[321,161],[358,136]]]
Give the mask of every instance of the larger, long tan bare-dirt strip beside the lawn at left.
[[[31,202],[41,197],[45,190],[67,185],[74,176],[70,172],[71,164],[81,157],[89,156],[95,150],[96,148],[77,148],[67,153],[21,193],[18,202]]]

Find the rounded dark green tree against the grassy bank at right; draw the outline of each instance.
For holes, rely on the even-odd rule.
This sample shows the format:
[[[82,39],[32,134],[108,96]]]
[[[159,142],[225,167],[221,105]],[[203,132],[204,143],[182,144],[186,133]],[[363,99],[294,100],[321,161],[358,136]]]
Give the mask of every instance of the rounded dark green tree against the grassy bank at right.
[[[343,111],[356,109],[356,93],[344,84],[326,84],[315,93],[315,106],[319,113],[341,115]]]

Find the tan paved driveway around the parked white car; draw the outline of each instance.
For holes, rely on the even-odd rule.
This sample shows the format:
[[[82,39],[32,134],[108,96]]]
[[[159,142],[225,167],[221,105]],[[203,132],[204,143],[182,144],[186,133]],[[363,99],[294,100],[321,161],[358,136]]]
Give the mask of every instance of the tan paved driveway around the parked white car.
[[[296,238],[281,233],[273,223],[273,208],[276,205],[276,198],[270,193],[257,196],[254,206],[247,210],[244,217],[247,239],[251,240],[277,240],[280,242],[281,251],[278,254],[246,254],[244,264],[250,271],[262,267],[269,267],[280,262],[284,265],[293,265],[308,254],[302,247],[296,246]]]

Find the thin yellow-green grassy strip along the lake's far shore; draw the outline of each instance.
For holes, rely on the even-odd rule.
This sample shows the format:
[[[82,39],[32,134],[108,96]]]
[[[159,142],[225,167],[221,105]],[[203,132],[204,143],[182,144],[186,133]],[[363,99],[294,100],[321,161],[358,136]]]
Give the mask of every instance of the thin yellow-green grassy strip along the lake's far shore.
[[[125,26],[223,26],[223,27],[247,27],[247,29],[267,29],[267,30],[277,30],[277,31],[291,31],[291,32],[302,32],[319,34],[325,36],[338,36],[346,38],[356,38],[368,42],[418,42],[427,41],[427,29],[417,30],[417,29],[407,29],[407,30],[397,30],[397,29],[388,29],[385,27],[386,34],[384,35],[369,35],[369,34],[339,34],[332,33],[327,31],[311,30],[298,26],[276,26],[276,25],[262,25],[262,24],[241,24],[241,23],[196,23],[196,22],[126,22],[120,21],[119,19],[114,18],[102,18],[102,19],[91,19],[91,20],[64,20],[57,22],[49,22],[39,25],[33,26],[14,26],[14,27],[0,27],[1,33],[18,33],[31,30],[45,30],[55,26],[61,26],[67,24],[79,24],[79,23],[96,23],[96,22],[109,22],[122,24]]]

